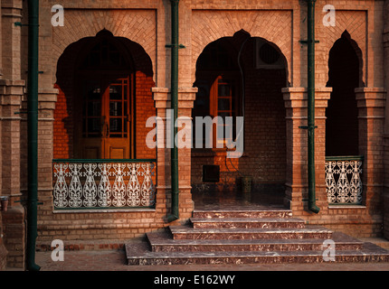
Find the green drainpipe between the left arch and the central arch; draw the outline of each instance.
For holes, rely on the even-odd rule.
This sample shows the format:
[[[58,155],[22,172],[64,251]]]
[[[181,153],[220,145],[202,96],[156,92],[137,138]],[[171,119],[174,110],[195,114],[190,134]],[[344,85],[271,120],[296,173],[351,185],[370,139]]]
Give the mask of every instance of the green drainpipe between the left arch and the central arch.
[[[178,148],[176,146],[176,119],[178,117],[178,3],[179,0],[170,0],[172,8],[172,42],[170,45],[166,45],[172,49],[171,59],[171,88],[170,88],[170,99],[171,107],[173,109],[172,126],[173,130],[173,148],[171,149],[171,186],[172,186],[172,210],[171,214],[167,216],[167,221],[172,222],[179,218],[178,215]]]

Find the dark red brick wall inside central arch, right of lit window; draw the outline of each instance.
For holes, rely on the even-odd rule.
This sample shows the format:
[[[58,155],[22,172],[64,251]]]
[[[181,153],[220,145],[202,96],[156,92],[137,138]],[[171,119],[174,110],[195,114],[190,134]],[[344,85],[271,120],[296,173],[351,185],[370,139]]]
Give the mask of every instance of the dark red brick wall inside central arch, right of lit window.
[[[286,124],[281,89],[285,70],[246,72],[245,148],[242,172],[256,182],[285,182]]]

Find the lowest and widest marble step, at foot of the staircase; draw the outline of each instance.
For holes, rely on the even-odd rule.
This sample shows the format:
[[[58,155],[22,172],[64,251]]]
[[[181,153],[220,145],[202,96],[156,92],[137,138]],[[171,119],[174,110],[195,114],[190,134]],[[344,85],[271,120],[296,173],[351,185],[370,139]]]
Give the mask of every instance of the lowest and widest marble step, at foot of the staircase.
[[[151,252],[144,244],[127,244],[130,266],[194,265],[194,264],[263,264],[263,263],[323,263],[323,262],[388,262],[389,252],[372,243],[361,250],[337,250],[335,261],[328,261],[322,250],[314,251],[219,251],[219,252]]]

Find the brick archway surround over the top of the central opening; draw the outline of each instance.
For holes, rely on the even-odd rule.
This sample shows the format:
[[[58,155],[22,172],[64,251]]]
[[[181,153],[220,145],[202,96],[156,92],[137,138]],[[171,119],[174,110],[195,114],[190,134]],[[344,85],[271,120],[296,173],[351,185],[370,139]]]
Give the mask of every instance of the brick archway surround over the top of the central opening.
[[[194,11],[192,14],[192,79],[195,63],[206,45],[245,31],[274,43],[292,71],[292,17],[289,11]],[[292,77],[288,76],[289,83]]]

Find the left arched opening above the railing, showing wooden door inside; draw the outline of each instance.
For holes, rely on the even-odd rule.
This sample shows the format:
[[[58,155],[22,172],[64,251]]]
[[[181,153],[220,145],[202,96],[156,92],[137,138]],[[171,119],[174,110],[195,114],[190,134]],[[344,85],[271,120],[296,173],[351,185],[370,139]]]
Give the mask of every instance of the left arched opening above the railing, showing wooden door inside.
[[[54,158],[155,158],[145,128],[156,114],[153,86],[138,43],[106,30],[72,43],[57,66]]]

